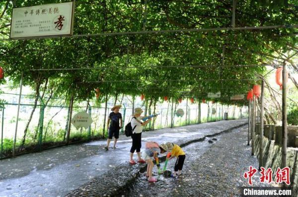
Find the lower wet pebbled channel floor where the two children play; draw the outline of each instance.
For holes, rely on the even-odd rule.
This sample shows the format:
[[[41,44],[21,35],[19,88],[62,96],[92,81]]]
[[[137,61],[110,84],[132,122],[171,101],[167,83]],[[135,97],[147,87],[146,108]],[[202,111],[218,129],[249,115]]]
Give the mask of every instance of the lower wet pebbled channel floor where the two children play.
[[[243,178],[249,166],[258,168],[257,158],[251,156],[247,146],[247,126],[234,129],[215,137],[217,141],[208,143],[208,139],[184,147],[186,159],[182,175],[178,178],[165,178],[154,174],[156,183],[148,183],[145,173],[135,181],[127,197],[236,197],[241,196],[239,187],[247,187]],[[168,163],[173,171],[175,159]],[[163,164],[162,164],[163,166]],[[259,173],[253,177],[253,186],[269,187],[259,182]],[[121,195],[121,196],[122,196]]]

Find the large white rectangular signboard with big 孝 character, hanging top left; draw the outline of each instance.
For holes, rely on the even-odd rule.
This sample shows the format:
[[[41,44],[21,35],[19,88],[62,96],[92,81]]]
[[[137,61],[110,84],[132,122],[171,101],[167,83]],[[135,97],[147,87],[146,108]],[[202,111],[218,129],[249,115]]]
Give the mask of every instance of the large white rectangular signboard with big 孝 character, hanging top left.
[[[74,2],[13,8],[10,39],[73,34]]]

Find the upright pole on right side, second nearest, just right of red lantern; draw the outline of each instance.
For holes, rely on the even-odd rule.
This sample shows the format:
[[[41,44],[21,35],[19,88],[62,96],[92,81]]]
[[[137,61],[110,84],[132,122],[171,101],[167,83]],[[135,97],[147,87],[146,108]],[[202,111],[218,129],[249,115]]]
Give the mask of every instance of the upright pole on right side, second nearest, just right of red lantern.
[[[263,135],[264,135],[264,80],[262,80],[262,92],[261,92],[261,107],[260,107],[260,135],[259,135],[259,170],[263,165]]]

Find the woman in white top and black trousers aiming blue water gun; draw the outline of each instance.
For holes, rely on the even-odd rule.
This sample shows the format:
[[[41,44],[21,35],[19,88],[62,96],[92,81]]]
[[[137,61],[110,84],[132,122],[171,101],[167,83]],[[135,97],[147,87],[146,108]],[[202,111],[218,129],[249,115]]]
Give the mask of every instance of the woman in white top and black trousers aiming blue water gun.
[[[129,161],[131,164],[136,164],[136,161],[134,161],[133,159],[135,151],[137,151],[137,154],[138,154],[138,158],[139,158],[138,163],[146,162],[141,157],[141,147],[142,147],[141,138],[142,138],[143,126],[147,125],[149,121],[151,121],[151,119],[148,119],[147,121],[142,122],[141,118],[144,118],[144,117],[141,117],[142,113],[143,113],[143,110],[140,107],[135,108],[135,113],[131,120],[131,125],[133,128],[133,134],[132,134],[133,145],[130,150],[130,161]]]

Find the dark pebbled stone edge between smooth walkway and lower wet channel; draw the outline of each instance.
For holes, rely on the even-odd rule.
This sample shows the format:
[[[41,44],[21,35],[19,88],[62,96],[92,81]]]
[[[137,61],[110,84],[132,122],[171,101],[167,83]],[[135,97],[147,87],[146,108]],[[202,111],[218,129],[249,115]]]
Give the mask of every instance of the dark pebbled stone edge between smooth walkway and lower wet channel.
[[[202,138],[190,140],[179,146],[181,148],[192,143],[204,141],[207,137],[214,137],[226,132],[231,132],[234,129],[245,126],[247,123],[242,123],[238,126],[229,128],[224,131],[217,132],[212,135],[206,135]],[[159,161],[165,161],[166,156],[159,157]],[[147,164],[131,165],[128,162],[115,166],[104,174],[93,178],[89,182],[83,184],[78,189],[70,192],[66,197],[92,196],[92,197],[113,197],[119,196],[124,190],[132,186],[141,173],[146,171]]]

